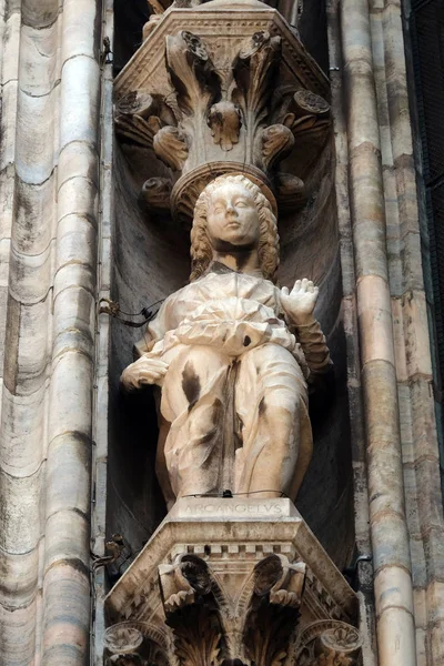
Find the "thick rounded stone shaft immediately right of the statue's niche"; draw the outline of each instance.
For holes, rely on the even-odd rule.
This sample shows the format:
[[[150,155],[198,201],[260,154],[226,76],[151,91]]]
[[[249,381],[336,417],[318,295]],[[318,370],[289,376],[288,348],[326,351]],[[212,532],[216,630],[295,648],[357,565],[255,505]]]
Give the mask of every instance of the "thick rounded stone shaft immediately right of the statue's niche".
[[[411,557],[367,0],[342,2],[350,192],[380,666],[416,664]]]

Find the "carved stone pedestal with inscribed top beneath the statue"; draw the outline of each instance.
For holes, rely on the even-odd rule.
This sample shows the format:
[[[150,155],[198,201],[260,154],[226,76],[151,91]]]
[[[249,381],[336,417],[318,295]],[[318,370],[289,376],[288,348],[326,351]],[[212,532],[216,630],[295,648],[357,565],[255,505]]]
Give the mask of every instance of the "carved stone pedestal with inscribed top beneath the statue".
[[[180,500],[105,607],[110,665],[357,664],[356,596],[289,500]]]

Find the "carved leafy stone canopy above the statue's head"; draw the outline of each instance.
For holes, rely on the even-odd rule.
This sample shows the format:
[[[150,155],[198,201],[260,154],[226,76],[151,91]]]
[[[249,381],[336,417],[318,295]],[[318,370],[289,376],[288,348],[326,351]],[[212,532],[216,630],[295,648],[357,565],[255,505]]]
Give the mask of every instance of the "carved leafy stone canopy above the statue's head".
[[[330,129],[329,81],[281,14],[258,0],[172,6],[115,80],[121,140],[147,150],[169,174],[143,198],[182,221],[210,180],[244,173],[275,208],[304,201],[297,173],[280,163],[303,141],[301,173]]]

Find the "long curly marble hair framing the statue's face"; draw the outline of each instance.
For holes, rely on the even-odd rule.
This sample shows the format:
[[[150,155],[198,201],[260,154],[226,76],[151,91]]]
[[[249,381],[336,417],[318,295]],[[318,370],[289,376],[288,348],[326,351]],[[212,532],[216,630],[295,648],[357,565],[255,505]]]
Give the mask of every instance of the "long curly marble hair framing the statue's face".
[[[213,251],[206,233],[206,214],[210,196],[224,183],[241,184],[248,190],[258,209],[260,229],[258,254],[261,270],[266,280],[273,280],[279,266],[279,234],[273,210],[260,188],[245,175],[220,175],[201,192],[195,206],[193,228],[191,230],[191,275],[190,281],[198,280],[208,269]]]

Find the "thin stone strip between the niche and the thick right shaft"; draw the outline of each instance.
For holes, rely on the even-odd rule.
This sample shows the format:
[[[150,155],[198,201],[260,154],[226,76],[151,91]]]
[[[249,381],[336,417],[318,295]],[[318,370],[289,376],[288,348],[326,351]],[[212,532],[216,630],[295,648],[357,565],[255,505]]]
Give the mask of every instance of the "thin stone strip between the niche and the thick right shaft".
[[[344,105],[343,58],[341,50],[340,0],[327,2],[330,80],[335,139],[335,191],[341,243],[342,313],[346,340],[347,393],[351,410],[351,441],[354,485],[354,528],[360,599],[360,632],[363,638],[363,664],[375,666],[377,656],[374,636],[373,567],[369,528],[369,488],[365,463],[364,406],[360,365],[359,326],[356,316],[356,279],[353,258],[353,233],[349,200],[349,148]]]

